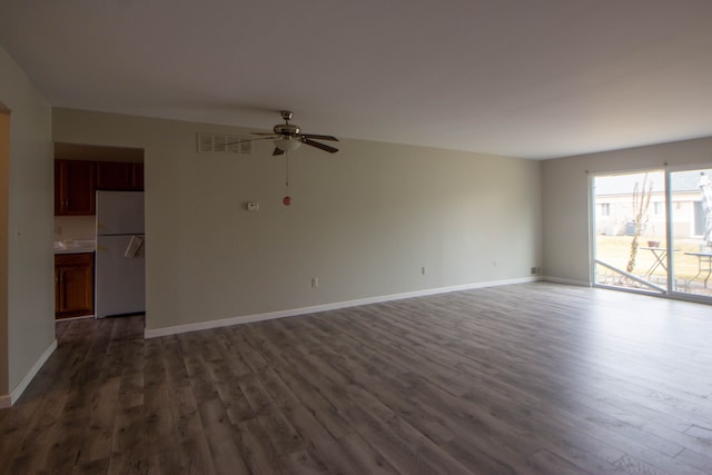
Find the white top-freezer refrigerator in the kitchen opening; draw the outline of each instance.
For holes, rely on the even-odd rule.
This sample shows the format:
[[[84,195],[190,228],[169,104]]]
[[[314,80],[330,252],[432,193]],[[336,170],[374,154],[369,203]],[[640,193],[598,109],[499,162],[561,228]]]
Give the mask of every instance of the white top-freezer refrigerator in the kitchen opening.
[[[146,311],[144,240],[144,191],[97,191],[97,318]]]

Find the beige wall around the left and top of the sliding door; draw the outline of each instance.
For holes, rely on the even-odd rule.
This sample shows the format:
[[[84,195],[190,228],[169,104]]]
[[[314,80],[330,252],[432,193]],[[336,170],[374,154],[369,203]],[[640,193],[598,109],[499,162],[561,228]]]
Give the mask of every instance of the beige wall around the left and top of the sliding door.
[[[562,281],[590,284],[590,177],[645,169],[684,169],[712,164],[712,138],[591,154],[544,161],[544,270]]]

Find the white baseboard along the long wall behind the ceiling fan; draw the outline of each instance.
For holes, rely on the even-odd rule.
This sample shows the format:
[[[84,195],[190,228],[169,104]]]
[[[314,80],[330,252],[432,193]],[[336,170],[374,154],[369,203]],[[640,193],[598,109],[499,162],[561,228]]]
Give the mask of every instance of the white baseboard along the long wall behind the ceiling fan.
[[[218,320],[199,321],[195,324],[176,325],[164,328],[146,329],[144,336],[146,338],[156,338],[160,336],[177,335],[188,331],[206,330],[210,328],[228,327],[239,324],[248,324],[253,321],[271,320],[275,318],[295,317],[298,315],[316,314],[318,311],[337,310],[339,308],[356,307],[358,305],[380,304],[383,301],[400,300],[404,298],[424,297],[428,295],[446,294],[451,291],[471,290],[475,288],[496,287],[512,284],[524,284],[540,280],[540,277],[523,277],[508,280],[493,280],[486,283],[464,284],[451,287],[438,287],[425,290],[406,291],[403,294],[384,295],[377,297],[358,298],[355,300],[336,301],[333,304],[315,305],[312,307],[291,308],[287,310],[269,311],[265,314],[243,315],[239,317],[221,318]]]

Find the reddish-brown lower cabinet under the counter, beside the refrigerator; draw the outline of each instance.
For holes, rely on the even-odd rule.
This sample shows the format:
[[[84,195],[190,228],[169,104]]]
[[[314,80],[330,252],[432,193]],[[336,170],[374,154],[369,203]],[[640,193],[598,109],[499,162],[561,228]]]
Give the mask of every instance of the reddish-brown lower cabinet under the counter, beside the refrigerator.
[[[55,255],[55,316],[93,315],[93,253]]]

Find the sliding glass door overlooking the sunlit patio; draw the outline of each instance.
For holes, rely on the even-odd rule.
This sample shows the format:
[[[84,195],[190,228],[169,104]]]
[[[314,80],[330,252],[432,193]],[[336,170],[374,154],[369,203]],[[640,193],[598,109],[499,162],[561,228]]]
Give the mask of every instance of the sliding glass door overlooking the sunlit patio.
[[[712,169],[593,178],[594,283],[712,298]]]

